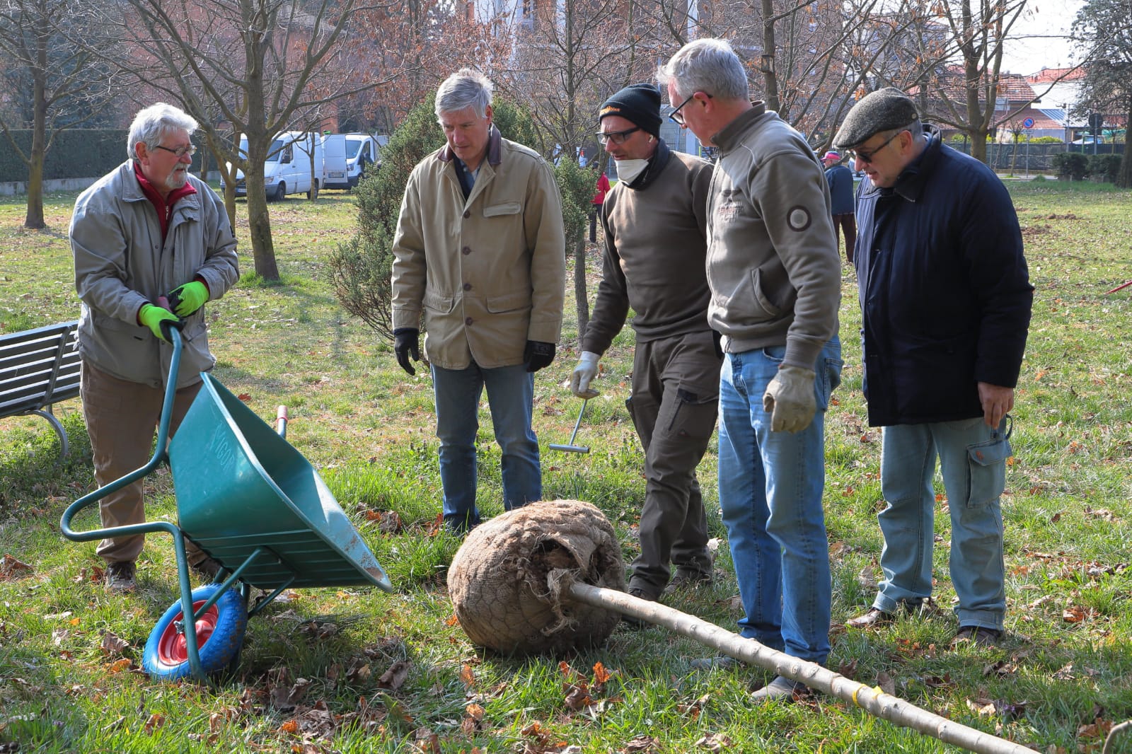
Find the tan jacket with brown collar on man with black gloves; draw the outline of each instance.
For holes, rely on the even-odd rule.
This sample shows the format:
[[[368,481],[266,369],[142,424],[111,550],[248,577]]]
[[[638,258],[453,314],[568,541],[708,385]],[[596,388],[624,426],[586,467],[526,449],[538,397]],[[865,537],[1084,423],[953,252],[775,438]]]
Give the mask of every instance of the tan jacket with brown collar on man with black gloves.
[[[526,341],[561,334],[566,245],[554,173],[538,153],[500,138],[468,202],[447,146],[409,177],[393,242],[393,326],[428,334],[444,369],[523,362]]]

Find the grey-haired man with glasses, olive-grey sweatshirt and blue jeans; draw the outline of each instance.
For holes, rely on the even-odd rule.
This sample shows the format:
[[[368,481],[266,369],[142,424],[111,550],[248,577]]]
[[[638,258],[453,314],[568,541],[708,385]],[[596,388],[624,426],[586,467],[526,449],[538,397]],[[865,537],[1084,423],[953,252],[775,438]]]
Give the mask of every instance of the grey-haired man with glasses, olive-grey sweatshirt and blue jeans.
[[[823,417],[841,374],[841,272],[821,163],[752,103],[722,40],[686,44],[661,71],[672,119],[718,147],[707,204],[707,320],[722,334],[719,503],[744,636],[824,662],[831,581]],[[755,699],[806,691],[781,676]]]

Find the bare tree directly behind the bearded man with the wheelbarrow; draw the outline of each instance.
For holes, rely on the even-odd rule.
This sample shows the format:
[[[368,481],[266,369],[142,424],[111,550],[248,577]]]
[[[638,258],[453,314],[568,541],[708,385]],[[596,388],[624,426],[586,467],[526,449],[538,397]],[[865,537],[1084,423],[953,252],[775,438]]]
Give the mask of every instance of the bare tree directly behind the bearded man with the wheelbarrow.
[[[119,19],[117,35],[132,46],[119,63],[200,122],[224,173],[230,215],[235,172],[243,172],[256,273],[278,280],[264,182],[273,138],[293,123],[314,122],[329,103],[381,82],[352,44],[369,36],[355,19],[388,3],[123,1],[132,12]],[[246,154],[238,148],[239,135],[247,138]]]

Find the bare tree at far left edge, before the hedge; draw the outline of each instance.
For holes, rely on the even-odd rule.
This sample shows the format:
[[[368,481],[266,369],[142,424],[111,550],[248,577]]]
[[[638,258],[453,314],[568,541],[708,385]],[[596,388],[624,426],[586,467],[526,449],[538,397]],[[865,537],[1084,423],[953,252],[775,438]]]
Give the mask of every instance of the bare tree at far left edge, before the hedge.
[[[0,130],[27,165],[24,228],[46,226],[43,162],[55,136],[82,126],[84,115],[112,98],[111,76],[96,52],[70,38],[77,29],[89,32],[91,9],[89,0],[0,0],[0,52],[15,100],[8,112],[0,111]],[[17,93],[27,95],[23,103]],[[25,149],[11,129],[28,126],[32,144]]]

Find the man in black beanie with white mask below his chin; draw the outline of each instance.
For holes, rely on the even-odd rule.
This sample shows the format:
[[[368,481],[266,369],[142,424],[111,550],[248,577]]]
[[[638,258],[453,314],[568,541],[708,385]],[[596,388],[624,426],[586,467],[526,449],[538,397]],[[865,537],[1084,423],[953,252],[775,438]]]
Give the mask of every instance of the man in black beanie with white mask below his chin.
[[[715,428],[721,359],[707,326],[704,273],[711,163],[670,151],[660,122],[660,92],[650,84],[625,87],[598,112],[598,140],[618,183],[601,207],[602,279],[571,378],[575,395],[594,394],[598,360],[632,307],[636,350],[626,405],[645,449],[646,481],[629,593],[651,601],[666,588],[712,580],[695,470]]]

